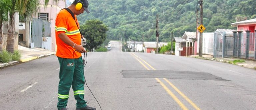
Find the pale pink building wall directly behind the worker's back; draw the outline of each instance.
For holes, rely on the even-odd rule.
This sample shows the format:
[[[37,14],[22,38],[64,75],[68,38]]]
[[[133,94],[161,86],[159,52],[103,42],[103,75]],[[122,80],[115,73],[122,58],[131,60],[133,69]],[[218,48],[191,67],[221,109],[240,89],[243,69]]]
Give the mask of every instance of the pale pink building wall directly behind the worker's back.
[[[49,13],[49,21],[51,22],[51,50],[56,51],[56,41],[55,41],[55,19],[58,12],[65,8],[66,1],[60,0],[56,5],[53,0],[50,0],[47,7],[44,8],[44,0],[40,0],[40,11],[38,13]],[[37,15],[36,15],[37,18]]]

